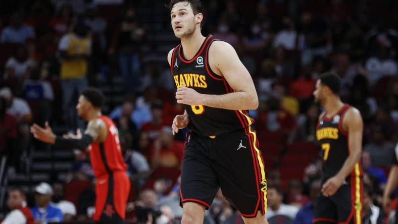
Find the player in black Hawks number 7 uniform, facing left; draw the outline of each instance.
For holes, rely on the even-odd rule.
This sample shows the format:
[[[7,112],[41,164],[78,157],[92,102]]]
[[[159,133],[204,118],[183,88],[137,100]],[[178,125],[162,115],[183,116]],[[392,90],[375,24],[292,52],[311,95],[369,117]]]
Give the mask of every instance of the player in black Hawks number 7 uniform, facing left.
[[[322,189],[317,198],[313,223],[356,223],[362,216],[363,122],[358,109],[340,100],[341,80],[333,73],[321,75],[315,100],[325,111],[319,116],[317,140],[322,148]]]

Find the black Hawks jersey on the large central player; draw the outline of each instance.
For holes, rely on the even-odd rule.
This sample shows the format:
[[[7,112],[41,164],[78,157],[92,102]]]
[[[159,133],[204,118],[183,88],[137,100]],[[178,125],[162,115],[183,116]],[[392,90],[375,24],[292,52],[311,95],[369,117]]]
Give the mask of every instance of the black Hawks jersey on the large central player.
[[[181,44],[174,48],[170,67],[177,88],[185,85],[198,93],[212,95],[233,92],[224,77],[216,75],[209,66],[209,48],[215,40],[209,35],[191,60],[184,58]],[[247,110],[220,109],[204,105],[183,106],[190,120],[188,129],[203,136],[229,133],[254,123]]]

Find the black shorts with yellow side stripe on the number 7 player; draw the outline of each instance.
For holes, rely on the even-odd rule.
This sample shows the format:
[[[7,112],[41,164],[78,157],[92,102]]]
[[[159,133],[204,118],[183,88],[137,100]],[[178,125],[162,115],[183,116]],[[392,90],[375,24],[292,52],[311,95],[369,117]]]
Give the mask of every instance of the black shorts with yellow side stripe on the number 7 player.
[[[356,165],[353,174],[330,197],[320,193],[314,209],[313,223],[362,223],[363,184],[362,175]]]

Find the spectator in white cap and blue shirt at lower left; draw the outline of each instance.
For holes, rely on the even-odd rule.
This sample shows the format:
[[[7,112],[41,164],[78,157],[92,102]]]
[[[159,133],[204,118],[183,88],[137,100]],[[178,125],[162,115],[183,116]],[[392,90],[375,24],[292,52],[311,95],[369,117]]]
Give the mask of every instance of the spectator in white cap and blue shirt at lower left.
[[[40,183],[34,189],[36,206],[31,208],[35,222],[62,222],[64,216],[61,209],[49,202],[53,196],[53,188],[47,183]]]

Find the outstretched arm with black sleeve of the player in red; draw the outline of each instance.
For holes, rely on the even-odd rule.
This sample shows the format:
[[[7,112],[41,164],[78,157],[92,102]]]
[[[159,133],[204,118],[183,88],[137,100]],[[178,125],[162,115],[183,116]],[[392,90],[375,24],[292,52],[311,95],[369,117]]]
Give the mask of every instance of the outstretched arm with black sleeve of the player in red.
[[[105,126],[105,127],[104,127]],[[84,150],[92,142],[104,140],[106,138],[106,125],[100,119],[92,120],[88,123],[87,129],[82,136],[67,135],[65,137],[56,136],[48,122],[45,123],[44,128],[37,124],[30,127],[30,132],[33,136],[44,143],[54,144],[65,148],[79,148]],[[80,137],[80,138],[79,138]]]

